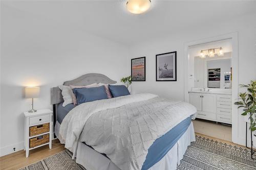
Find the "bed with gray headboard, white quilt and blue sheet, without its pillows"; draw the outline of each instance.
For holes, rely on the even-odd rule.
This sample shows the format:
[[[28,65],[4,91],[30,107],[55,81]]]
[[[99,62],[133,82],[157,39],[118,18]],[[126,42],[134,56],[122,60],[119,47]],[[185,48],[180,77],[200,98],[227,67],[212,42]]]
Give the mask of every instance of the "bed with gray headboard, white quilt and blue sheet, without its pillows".
[[[115,84],[87,74],[63,85]],[[133,94],[62,106],[58,87],[52,89],[54,133],[88,170],[176,169],[195,133],[190,104]],[[172,114],[171,114],[172,113]]]

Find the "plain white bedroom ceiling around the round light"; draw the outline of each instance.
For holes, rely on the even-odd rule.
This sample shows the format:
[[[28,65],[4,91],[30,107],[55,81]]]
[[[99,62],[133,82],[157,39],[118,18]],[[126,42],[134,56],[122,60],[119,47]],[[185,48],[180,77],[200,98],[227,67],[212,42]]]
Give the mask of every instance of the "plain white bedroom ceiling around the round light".
[[[143,14],[131,14],[126,1],[1,1],[56,23],[117,42],[132,44],[148,37],[218,24],[256,12],[256,1],[154,1]]]

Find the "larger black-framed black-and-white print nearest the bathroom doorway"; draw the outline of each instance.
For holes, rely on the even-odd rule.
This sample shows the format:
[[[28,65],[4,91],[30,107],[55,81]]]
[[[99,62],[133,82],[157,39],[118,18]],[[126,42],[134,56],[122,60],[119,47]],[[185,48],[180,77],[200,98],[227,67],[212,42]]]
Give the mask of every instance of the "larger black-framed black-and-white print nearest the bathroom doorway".
[[[156,55],[156,81],[177,81],[177,52]]]

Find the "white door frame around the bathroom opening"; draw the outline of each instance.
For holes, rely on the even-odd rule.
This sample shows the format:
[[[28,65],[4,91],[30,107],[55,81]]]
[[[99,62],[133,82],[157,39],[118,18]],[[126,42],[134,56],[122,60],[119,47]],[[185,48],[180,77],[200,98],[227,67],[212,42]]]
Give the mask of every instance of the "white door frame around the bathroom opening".
[[[184,43],[184,101],[189,102],[188,94],[188,50],[189,46],[199,45],[208,42],[230,39],[232,42],[232,142],[244,145],[244,138],[239,135],[238,118],[239,112],[233,103],[239,98],[239,55],[238,55],[238,32],[228,33],[216,37],[204,38]]]

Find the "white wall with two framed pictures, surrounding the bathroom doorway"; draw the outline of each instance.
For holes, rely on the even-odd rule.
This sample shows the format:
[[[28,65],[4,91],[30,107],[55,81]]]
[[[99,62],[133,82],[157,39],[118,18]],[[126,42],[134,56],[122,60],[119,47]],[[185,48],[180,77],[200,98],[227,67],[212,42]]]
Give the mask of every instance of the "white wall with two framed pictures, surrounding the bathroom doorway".
[[[146,56],[146,82],[133,82],[133,93],[151,92],[166,98],[184,100],[184,43],[231,32],[238,32],[239,84],[255,80],[255,18],[256,14],[253,13],[225,22],[212,23],[208,28],[200,25],[198,28],[187,28],[182,32],[172,33],[170,30],[165,37],[133,44],[131,58]],[[177,82],[156,82],[156,54],[173,51],[177,51]],[[245,126],[242,116],[239,117],[239,137],[242,139],[241,144],[245,144]]]

